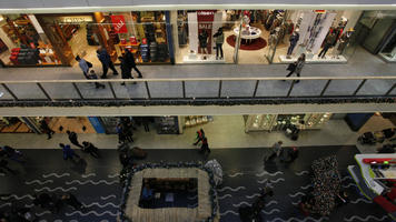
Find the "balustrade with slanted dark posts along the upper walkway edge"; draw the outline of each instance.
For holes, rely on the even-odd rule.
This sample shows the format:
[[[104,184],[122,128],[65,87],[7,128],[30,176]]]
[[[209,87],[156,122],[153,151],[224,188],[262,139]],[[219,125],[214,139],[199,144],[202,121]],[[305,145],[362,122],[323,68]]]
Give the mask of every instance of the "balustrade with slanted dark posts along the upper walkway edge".
[[[291,78],[286,78],[286,77],[242,77],[242,78],[170,78],[170,79],[102,79],[102,80],[28,80],[28,81],[0,81],[0,84],[2,85],[2,88],[11,95],[13,101],[20,101],[20,100],[46,100],[46,101],[55,101],[55,100],[68,100],[68,99],[57,99],[53,98],[51,95],[51,93],[49,93],[49,91],[46,90],[46,83],[71,83],[73,91],[78,94],[79,100],[86,100],[86,99],[90,99],[85,98],[83,93],[81,93],[81,88],[79,87],[78,83],[106,83],[110,91],[111,91],[111,98],[112,99],[122,99],[118,97],[117,91],[115,90],[113,84],[115,83],[120,83],[120,82],[141,82],[145,83],[145,88],[146,88],[146,93],[147,93],[147,99],[155,99],[155,97],[152,97],[151,94],[151,90],[152,88],[156,88],[156,85],[149,84],[149,82],[179,82],[180,87],[181,87],[181,97],[169,97],[168,99],[186,99],[186,82],[191,82],[191,81],[200,81],[200,82],[205,82],[205,81],[215,81],[218,82],[218,88],[217,88],[217,94],[215,97],[217,98],[229,98],[227,95],[225,95],[222,93],[222,88],[224,88],[224,83],[225,81],[253,81],[255,82],[254,88],[251,88],[251,94],[249,95],[237,95],[236,98],[257,98],[257,90],[258,90],[258,85],[260,82],[265,82],[265,81],[279,81],[279,80],[287,80],[287,81],[291,81],[290,87],[288,87],[287,89],[285,89],[285,92],[287,92],[285,95],[279,95],[280,98],[290,98],[290,97],[306,97],[306,95],[293,95],[294,92],[294,87],[296,85],[295,83],[297,82],[297,80],[299,81],[315,81],[315,80],[321,80],[321,81],[326,81],[325,85],[321,88],[321,90],[319,90],[317,93],[311,93],[309,97],[315,97],[315,98],[323,98],[323,97],[327,97],[326,95],[326,91],[328,89],[328,87],[331,84],[333,81],[335,80],[357,80],[359,81],[357,88],[353,91],[353,93],[346,93],[346,94],[340,94],[341,97],[357,97],[358,92],[360,91],[360,89],[365,85],[365,83],[367,82],[367,80],[396,80],[396,77],[394,75],[389,75],[389,77],[291,77]],[[44,99],[37,99],[34,97],[29,98],[28,99],[21,99],[18,98],[18,94],[14,93],[14,91],[12,91],[10,89],[9,85],[12,84],[36,84],[38,87],[38,89],[41,91],[42,97]],[[314,83],[315,84],[315,83]],[[150,90],[151,88],[151,90]],[[394,82],[392,84],[392,87],[389,89],[384,89],[384,92],[382,92],[380,94],[377,94],[376,97],[389,97],[390,93],[395,90],[396,88],[396,82]],[[386,91],[385,91],[386,90]],[[196,92],[197,95],[199,95],[199,92]],[[57,95],[56,95],[57,97]],[[267,95],[270,97],[270,95]],[[24,97],[27,98],[27,97]],[[71,97],[72,98],[72,97]],[[108,97],[106,97],[108,98]],[[196,97],[190,97],[192,99],[195,99]],[[129,98],[131,99],[131,98]],[[1,101],[4,101],[8,99],[1,99]]]

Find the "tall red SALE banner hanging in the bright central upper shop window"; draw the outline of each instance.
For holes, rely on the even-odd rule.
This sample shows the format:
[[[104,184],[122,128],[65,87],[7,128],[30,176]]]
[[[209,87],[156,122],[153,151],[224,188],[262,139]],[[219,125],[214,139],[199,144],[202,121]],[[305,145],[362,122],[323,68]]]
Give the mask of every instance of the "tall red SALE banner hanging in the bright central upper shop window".
[[[215,12],[216,10],[198,10],[197,11],[197,17],[198,17],[198,34],[201,33],[204,30],[208,34],[208,43],[207,43],[207,51],[210,54],[211,53],[211,29],[212,29],[212,23],[215,20]],[[201,53],[200,47],[198,47],[198,53]]]

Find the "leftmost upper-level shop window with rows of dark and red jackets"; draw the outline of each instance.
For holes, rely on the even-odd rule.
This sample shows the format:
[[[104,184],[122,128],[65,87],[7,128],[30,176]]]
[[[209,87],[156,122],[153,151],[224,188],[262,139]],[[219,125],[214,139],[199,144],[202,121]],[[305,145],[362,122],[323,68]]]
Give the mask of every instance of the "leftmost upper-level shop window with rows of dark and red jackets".
[[[34,16],[0,17],[0,59],[6,65],[61,64]]]

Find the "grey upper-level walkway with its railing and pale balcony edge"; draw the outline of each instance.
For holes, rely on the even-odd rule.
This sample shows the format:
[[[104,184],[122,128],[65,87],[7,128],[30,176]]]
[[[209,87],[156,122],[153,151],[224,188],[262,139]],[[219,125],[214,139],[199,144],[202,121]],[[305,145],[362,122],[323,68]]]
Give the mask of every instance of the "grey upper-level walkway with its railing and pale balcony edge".
[[[87,115],[117,115],[132,111],[133,114],[151,115],[199,114],[208,113],[202,107],[209,105],[234,105],[210,107],[212,113],[220,114],[226,114],[227,109],[232,109],[229,113],[234,114],[396,110],[394,104],[396,64],[385,63],[363,49],[358,49],[346,64],[306,64],[298,83],[293,81],[298,80],[297,78],[281,81],[287,74],[286,67],[286,64],[140,65],[143,79],[129,80],[136,81],[136,84],[128,82],[127,85],[120,85],[122,82],[120,77],[111,75],[110,72],[110,79],[97,80],[106,84],[105,89],[96,89],[93,83],[87,83],[89,80],[85,80],[78,67],[1,69],[0,115],[40,115],[44,112],[49,115],[68,115],[57,113],[53,107],[72,108],[73,111],[69,110],[70,112],[81,115],[83,114],[82,109],[79,109],[81,105],[119,108],[107,111],[87,109]],[[101,73],[100,67],[95,69],[97,73]],[[236,109],[235,105],[240,104],[246,108]],[[327,107],[319,108],[318,104]],[[337,105],[337,110],[328,107],[329,104]],[[162,107],[150,109],[156,105]],[[271,107],[263,109],[263,105]],[[294,107],[293,110],[290,105],[298,107]],[[40,108],[29,114],[26,107],[32,109],[46,107],[49,110]],[[171,107],[178,108],[172,111]]]

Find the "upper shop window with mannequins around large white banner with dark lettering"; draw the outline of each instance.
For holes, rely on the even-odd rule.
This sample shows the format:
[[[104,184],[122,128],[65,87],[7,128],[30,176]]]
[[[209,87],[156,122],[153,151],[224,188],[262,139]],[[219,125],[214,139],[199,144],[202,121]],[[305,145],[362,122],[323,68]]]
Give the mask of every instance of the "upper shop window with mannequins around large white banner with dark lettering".
[[[347,62],[345,49],[349,47],[354,27],[362,11],[288,10],[286,21],[294,24],[287,50],[277,46],[270,62],[290,63],[299,54],[307,62]]]

